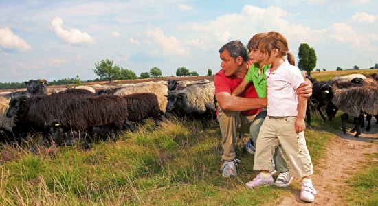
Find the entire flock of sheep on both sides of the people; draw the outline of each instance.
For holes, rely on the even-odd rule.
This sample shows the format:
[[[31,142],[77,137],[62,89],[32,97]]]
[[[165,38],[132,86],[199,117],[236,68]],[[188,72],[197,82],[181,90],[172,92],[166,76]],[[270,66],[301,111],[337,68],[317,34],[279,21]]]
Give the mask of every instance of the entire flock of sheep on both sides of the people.
[[[345,113],[345,120],[355,117],[355,137],[366,115],[370,130],[372,115],[378,119],[378,76],[353,74],[337,76],[327,82],[313,82],[313,95],[307,106],[307,124],[311,126],[311,111],[326,115],[331,120],[337,110]],[[214,82],[158,81],[122,84],[118,87],[94,84],[74,88],[52,88],[44,79],[25,82],[27,90],[0,93],[0,140],[20,141],[30,134],[42,133],[43,141],[60,144],[65,139],[85,133],[84,147],[91,148],[92,139],[102,134],[104,140],[116,141],[121,130],[134,130],[134,124],[144,124],[151,117],[157,127],[162,119],[200,120],[207,128],[209,119],[215,118],[216,101]],[[312,108],[312,109],[311,109]],[[378,124],[378,122],[377,122]]]

